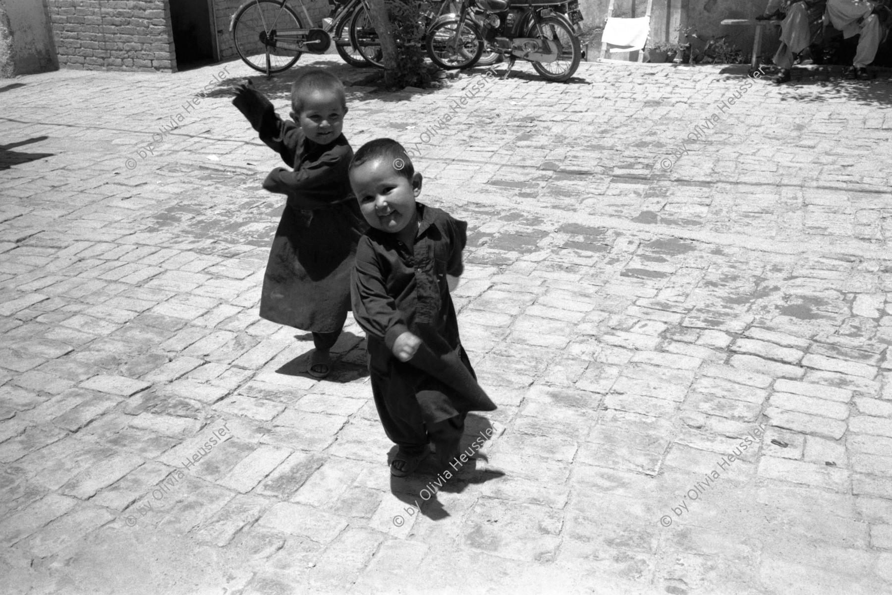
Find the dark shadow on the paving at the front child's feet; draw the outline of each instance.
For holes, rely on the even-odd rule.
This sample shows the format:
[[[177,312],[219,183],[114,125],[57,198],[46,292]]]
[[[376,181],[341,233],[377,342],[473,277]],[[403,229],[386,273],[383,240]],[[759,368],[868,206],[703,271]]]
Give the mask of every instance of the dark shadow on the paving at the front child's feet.
[[[478,438],[494,438],[498,432],[489,419],[474,413],[468,413],[465,420],[465,434],[462,435],[458,445],[460,453],[464,453],[467,462],[460,459],[442,469],[437,462],[436,455],[432,453],[418,467],[417,471],[408,477],[394,477],[391,475],[391,492],[397,498],[405,502],[409,507],[416,508],[418,514],[427,516],[431,520],[438,521],[450,516],[449,511],[443,507],[437,498],[439,492],[461,493],[471,483],[484,483],[505,475],[501,471],[484,469],[480,463],[489,459],[486,448],[490,442],[481,445]],[[489,440],[491,440],[489,438]],[[388,452],[388,461],[396,455],[397,447]]]

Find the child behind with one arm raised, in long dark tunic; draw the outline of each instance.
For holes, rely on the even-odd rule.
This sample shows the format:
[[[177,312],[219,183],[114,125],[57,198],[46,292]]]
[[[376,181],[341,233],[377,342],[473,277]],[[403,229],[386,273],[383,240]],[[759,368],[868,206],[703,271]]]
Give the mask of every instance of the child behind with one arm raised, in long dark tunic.
[[[236,89],[233,103],[293,168],[273,169],[263,182],[287,200],[263,277],[260,317],[311,331],[309,372],[323,378],[350,310],[353,258],[366,227],[347,173],[353,151],[341,133],[344,88],[326,70],[302,70],[292,86],[293,121],[281,120],[250,80]]]

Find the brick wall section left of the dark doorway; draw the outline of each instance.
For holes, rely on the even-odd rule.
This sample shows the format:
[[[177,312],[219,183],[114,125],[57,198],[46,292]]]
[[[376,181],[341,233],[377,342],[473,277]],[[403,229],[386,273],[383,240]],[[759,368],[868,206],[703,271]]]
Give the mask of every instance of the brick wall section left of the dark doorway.
[[[177,70],[166,0],[46,0],[59,66]]]

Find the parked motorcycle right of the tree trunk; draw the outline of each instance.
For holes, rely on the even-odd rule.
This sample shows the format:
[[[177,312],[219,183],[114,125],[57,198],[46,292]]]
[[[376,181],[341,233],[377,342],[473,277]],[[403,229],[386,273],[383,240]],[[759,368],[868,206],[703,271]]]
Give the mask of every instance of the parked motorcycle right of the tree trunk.
[[[505,78],[518,58],[546,80],[566,81],[579,68],[578,0],[470,0],[462,8],[428,29],[427,53],[441,68],[471,68],[484,50],[508,59]],[[475,8],[483,26],[471,16]]]

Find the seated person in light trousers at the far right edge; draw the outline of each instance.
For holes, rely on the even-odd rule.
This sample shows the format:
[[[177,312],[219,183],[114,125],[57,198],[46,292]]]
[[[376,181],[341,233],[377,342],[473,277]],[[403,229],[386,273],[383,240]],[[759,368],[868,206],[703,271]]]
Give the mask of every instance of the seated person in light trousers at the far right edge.
[[[833,29],[842,31],[842,36],[846,39],[855,35],[861,36],[858,37],[858,49],[852,68],[847,72],[847,79],[873,78],[867,71],[867,65],[873,62],[877,48],[886,37],[889,16],[889,9],[878,2],[827,0],[824,24],[830,23]]]

